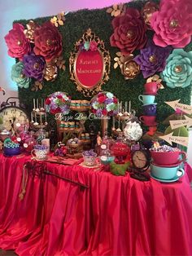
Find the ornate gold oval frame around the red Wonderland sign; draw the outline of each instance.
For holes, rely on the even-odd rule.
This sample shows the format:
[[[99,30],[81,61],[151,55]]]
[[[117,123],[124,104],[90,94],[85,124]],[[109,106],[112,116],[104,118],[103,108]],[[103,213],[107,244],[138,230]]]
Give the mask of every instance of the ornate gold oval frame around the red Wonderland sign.
[[[91,42],[93,40],[98,43],[98,51],[103,58],[103,75],[100,81],[96,85],[92,87],[87,87],[81,84],[81,82],[79,82],[76,76],[76,60],[80,53],[79,46],[85,41]],[[82,38],[76,42],[75,50],[71,52],[71,55],[69,58],[69,70],[71,74],[70,79],[73,82],[75,82],[76,90],[81,91],[83,95],[85,95],[85,97],[91,97],[97,94],[98,91],[102,90],[103,84],[105,84],[109,80],[110,67],[111,67],[111,56],[109,54],[109,51],[105,49],[103,40],[100,40],[100,38],[98,38],[98,36],[96,36],[95,33],[91,31],[91,29],[88,29],[83,34]]]

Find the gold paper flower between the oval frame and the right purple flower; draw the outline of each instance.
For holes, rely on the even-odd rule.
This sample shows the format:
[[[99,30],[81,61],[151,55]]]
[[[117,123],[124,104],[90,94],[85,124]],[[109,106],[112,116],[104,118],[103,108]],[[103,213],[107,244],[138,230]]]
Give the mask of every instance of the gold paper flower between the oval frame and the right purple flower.
[[[124,64],[121,65],[121,73],[124,79],[133,79],[140,72],[139,65],[133,60],[133,55],[124,57]]]

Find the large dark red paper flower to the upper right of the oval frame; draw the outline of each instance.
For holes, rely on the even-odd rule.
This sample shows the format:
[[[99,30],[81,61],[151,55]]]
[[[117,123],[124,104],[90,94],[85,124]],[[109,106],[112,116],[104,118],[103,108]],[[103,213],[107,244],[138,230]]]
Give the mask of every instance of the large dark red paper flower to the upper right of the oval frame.
[[[136,9],[129,8],[124,15],[117,16],[112,20],[112,26],[111,46],[120,48],[122,54],[129,55],[145,46],[146,24]]]

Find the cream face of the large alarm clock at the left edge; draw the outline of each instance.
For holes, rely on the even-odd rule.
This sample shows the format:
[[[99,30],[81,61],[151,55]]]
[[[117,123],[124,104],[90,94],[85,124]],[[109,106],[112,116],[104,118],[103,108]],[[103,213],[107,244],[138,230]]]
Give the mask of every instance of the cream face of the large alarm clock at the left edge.
[[[24,110],[17,107],[7,107],[0,110],[0,129],[7,129],[11,132],[20,126],[29,125],[28,116]]]

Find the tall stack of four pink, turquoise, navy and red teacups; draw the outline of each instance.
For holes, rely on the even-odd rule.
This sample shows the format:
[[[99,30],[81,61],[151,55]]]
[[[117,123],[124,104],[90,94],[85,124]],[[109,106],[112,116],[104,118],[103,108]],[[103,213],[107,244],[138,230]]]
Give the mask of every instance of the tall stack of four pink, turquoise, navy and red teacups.
[[[144,115],[139,117],[139,120],[145,126],[157,126],[155,95],[157,94],[158,84],[157,82],[147,82],[144,87],[143,95],[138,96],[138,99],[142,101],[144,110]]]

